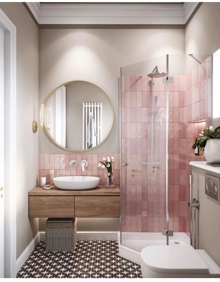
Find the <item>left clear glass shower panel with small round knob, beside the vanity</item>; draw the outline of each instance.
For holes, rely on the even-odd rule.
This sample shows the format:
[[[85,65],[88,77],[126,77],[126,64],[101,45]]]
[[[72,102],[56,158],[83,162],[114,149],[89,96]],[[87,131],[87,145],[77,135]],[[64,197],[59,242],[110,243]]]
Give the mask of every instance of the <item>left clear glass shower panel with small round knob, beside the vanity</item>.
[[[166,72],[166,56],[121,68],[121,240],[138,251],[166,244]]]

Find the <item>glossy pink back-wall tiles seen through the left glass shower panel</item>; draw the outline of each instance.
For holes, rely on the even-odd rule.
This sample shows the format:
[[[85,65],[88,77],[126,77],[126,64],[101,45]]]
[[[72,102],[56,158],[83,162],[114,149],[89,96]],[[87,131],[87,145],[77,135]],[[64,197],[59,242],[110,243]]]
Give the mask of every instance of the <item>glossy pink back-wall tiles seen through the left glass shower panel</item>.
[[[158,166],[155,179],[150,180],[146,165],[139,165],[151,157],[149,78],[122,77],[122,80],[122,162],[129,163],[128,167],[122,167],[122,231],[160,232],[166,222],[165,166]],[[154,89],[154,95],[159,96],[158,158],[164,160],[166,93],[162,79],[155,81]],[[149,173],[152,176],[152,167]]]

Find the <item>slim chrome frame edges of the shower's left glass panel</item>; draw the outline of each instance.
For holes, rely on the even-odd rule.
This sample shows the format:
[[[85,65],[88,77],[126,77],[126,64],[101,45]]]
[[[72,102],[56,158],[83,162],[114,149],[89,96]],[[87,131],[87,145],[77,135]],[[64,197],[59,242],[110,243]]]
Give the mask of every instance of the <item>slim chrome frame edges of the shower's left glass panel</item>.
[[[169,167],[168,167],[168,150],[169,150],[169,55],[166,56],[166,244],[169,244]],[[164,57],[165,57],[164,56]],[[160,57],[158,57],[159,59]],[[154,58],[155,60],[157,58]],[[146,61],[147,63],[148,61]],[[161,70],[163,71],[163,70]],[[120,68],[120,74],[119,74],[119,146],[120,146],[120,152],[119,152],[119,163],[120,163],[120,220],[119,220],[119,230],[120,230],[120,244],[122,244],[122,74],[127,75],[134,75],[134,76],[140,76],[143,77],[143,75],[139,74],[131,74],[131,73],[124,73],[122,72],[122,68]],[[146,74],[147,76],[147,74]],[[162,231],[162,230],[161,230]],[[160,232],[159,232],[160,233]],[[165,239],[165,237],[164,237]]]

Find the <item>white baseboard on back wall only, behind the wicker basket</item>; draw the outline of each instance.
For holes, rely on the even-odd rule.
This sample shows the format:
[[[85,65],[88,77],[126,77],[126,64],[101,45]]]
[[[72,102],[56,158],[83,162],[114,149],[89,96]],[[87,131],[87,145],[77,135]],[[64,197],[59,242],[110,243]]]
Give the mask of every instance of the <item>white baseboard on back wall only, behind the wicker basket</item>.
[[[40,231],[40,241],[45,240],[45,231]],[[77,240],[117,241],[118,231],[77,231]]]

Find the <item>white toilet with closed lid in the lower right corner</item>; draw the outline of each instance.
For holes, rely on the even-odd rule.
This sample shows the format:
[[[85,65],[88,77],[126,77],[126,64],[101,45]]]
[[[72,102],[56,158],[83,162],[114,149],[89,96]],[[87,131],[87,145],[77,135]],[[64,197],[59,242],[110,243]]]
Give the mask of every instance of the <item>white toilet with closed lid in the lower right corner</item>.
[[[141,251],[143,278],[220,277],[220,268],[204,250],[187,245],[148,246]]]

